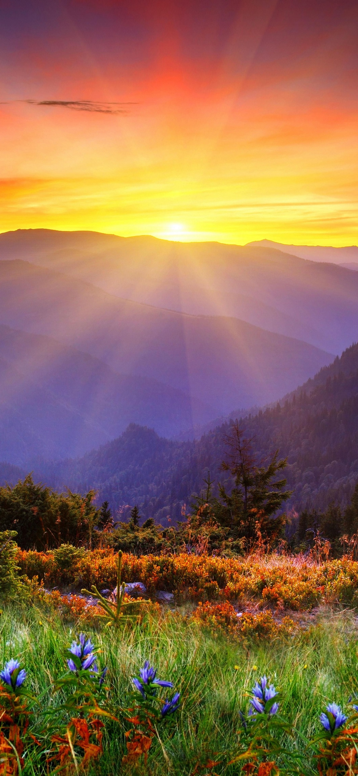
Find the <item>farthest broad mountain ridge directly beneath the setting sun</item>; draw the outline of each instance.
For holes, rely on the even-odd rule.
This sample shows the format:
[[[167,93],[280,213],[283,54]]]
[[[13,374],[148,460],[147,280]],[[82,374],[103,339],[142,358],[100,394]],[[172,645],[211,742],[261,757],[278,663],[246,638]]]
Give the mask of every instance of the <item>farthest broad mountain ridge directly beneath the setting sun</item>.
[[[352,262],[358,248],[277,244],[277,250],[275,244],[263,243],[180,243],[150,236],[17,230],[0,234],[0,259],[20,258],[121,299],[196,316],[236,317],[328,352],[342,352],[358,338],[358,275],[325,262],[333,261],[329,251],[339,257],[336,261]],[[315,260],[292,255],[296,248]]]

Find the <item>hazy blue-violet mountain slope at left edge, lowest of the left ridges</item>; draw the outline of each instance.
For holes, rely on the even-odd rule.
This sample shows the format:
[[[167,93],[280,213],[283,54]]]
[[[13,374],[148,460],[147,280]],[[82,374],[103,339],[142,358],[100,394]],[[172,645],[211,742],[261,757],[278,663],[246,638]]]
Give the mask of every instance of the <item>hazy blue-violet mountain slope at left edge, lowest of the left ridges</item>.
[[[160,434],[210,408],[155,379],[116,374],[99,359],[50,337],[0,325],[0,460],[82,455],[131,421]]]

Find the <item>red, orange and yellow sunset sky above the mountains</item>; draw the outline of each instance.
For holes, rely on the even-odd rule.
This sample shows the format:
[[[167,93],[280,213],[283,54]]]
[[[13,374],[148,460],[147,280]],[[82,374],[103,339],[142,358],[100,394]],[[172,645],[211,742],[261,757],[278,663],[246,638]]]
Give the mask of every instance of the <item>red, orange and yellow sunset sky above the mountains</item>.
[[[356,0],[0,0],[0,231],[358,243]]]

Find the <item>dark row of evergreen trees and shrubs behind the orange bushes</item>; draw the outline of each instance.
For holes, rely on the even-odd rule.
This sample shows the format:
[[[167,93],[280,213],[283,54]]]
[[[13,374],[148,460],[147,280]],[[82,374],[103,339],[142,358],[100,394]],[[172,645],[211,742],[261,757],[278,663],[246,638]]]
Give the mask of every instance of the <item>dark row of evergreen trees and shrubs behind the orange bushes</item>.
[[[306,509],[287,516],[284,504],[291,497],[284,476],[287,459],[280,459],[278,451],[259,459],[253,440],[243,435],[237,421],[225,435],[224,446],[221,472],[224,478],[229,476],[230,486],[224,479],[215,490],[208,473],[188,514],[183,509],[174,525],[143,520],[136,504],[129,521],[116,521],[108,501],[96,506],[95,490],[84,495],[71,490],[57,493],[28,475],[14,487],[0,488],[0,531],[17,532],[23,549],[112,546],[137,554],[184,549],[226,556],[254,547],[269,551],[280,543],[301,551],[312,547],[317,536],[329,541],[339,555],[344,542],[358,535],[358,484],[344,511],[330,504],[325,511]]]

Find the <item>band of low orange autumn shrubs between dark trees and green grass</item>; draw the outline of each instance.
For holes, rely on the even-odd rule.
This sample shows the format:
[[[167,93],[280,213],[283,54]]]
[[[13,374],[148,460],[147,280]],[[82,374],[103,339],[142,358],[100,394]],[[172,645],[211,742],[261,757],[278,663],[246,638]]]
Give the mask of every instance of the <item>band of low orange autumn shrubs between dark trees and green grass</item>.
[[[64,553],[63,553],[64,554]],[[37,576],[44,587],[112,589],[116,584],[117,553],[95,549],[82,555],[69,553],[64,565],[56,551],[18,550],[20,573]],[[358,563],[350,559],[309,563],[302,557],[258,556],[224,558],[180,553],[136,556],[123,553],[122,580],[143,582],[149,595],[173,592],[185,598],[243,606],[256,601],[261,607],[309,611],[322,602],[358,606]]]

